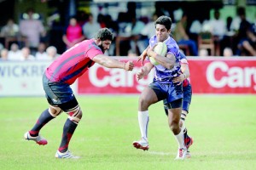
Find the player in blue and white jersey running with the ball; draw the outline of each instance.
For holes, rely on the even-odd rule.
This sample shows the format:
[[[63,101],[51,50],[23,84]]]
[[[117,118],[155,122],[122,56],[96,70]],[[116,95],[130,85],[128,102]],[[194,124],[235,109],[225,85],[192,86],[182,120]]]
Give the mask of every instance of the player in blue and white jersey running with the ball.
[[[167,16],[160,16],[154,23],[155,36],[149,39],[149,46],[143,51],[138,60],[152,57],[160,65],[152,65],[146,62],[137,72],[137,79],[148,76],[154,68],[154,81],[143,89],[138,102],[138,122],[142,138],[133,142],[137,149],[148,150],[148,107],[160,100],[166,99],[168,111],[168,123],[172,133],[177,139],[177,160],[183,160],[187,154],[184,144],[183,130],[179,126],[183,103],[183,84],[172,82],[174,77],[181,74],[180,52],[177,42],[170,37],[172,20]],[[166,56],[156,54],[153,49],[157,42],[165,42],[167,46]]]

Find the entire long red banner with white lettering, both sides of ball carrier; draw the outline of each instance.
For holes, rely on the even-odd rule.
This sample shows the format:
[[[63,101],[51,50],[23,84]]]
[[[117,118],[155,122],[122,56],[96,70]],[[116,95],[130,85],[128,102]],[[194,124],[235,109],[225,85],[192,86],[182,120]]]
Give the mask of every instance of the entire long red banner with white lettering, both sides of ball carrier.
[[[141,67],[137,58],[133,71],[108,69],[93,65],[79,77],[78,94],[140,94],[152,82],[154,71],[137,81],[136,73]],[[256,58],[188,58],[190,82],[194,94],[256,94]]]

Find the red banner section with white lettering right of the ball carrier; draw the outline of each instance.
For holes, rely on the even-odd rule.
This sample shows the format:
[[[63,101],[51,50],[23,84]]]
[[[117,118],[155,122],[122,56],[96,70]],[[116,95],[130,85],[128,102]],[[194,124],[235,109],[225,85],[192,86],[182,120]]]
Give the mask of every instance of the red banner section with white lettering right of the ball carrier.
[[[195,94],[256,94],[256,58],[189,58]]]

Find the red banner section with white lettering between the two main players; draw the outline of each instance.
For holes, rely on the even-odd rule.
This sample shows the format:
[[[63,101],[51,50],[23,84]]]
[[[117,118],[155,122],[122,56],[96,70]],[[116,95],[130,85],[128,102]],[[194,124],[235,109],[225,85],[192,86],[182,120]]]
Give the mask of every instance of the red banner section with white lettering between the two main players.
[[[125,71],[95,64],[82,77],[79,77],[78,94],[139,94],[146,85],[152,82],[154,71],[151,71],[148,77],[137,81],[136,73],[142,65],[141,62],[137,62],[137,58],[118,57],[115,59],[132,60],[135,68],[133,71]]]

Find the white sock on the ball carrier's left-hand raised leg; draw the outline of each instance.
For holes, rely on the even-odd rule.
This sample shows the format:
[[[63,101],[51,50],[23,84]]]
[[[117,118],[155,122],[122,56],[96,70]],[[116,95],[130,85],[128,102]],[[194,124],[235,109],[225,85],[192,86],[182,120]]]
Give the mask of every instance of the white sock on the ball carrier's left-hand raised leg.
[[[149,116],[148,111],[138,111],[138,122],[142,134],[142,138],[148,139],[148,122]]]

